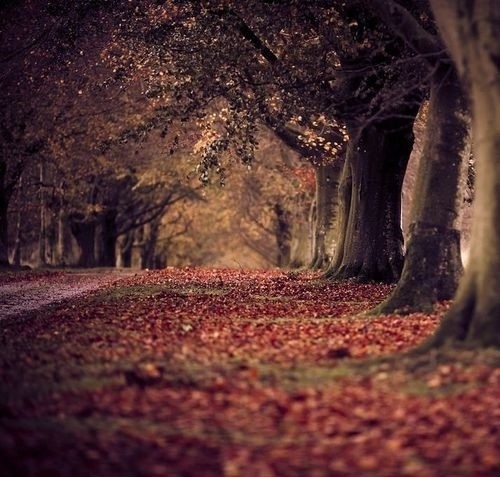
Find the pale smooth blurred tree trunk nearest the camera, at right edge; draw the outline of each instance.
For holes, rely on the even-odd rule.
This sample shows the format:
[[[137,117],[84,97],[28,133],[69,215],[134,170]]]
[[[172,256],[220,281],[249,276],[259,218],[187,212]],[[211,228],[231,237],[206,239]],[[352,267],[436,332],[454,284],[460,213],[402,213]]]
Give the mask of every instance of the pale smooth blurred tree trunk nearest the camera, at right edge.
[[[452,308],[424,349],[456,341],[500,347],[500,2],[431,5],[469,87],[477,175],[470,261]]]

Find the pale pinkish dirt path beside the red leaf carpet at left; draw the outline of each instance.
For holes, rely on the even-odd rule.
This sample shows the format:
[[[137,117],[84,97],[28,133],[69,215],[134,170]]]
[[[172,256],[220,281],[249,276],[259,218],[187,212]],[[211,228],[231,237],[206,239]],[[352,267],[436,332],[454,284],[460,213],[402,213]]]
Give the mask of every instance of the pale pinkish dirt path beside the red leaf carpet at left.
[[[23,316],[48,305],[75,298],[135,275],[136,271],[71,271],[37,275],[22,274],[0,283],[0,320]]]

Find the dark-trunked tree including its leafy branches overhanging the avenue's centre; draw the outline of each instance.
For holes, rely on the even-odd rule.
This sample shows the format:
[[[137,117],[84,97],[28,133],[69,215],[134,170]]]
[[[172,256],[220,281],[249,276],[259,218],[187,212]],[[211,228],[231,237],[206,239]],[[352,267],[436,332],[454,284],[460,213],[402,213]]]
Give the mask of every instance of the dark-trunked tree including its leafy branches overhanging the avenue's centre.
[[[308,127],[326,113],[329,120],[348,123],[353,200],[342,233],[349,237],[339,240],[344,249],[330,275],[393,281],[403,262],[399,196],[421,95],[415,88],[418,70],[411,62],[410,68],[401,66],[408,59],[404,45],[360,6],[186,2],[153,27],[139,21],[144,51],[167,58],[162,64],[168,73],[153,89],[164,93],[172,77],[172,94],[181,104],[199,102],[201,94],[224,97],[230,109],[245,111],[247,122],[265,121],[271,113],[278,127],[294,121]],[[151,67],[151,55],[142,57],[133,63]],[[412,91],[405,93],[408,84]],[[215,168],[229,140],[214,142],[208,151]],[[368,179],[374,172],[377,178]]]

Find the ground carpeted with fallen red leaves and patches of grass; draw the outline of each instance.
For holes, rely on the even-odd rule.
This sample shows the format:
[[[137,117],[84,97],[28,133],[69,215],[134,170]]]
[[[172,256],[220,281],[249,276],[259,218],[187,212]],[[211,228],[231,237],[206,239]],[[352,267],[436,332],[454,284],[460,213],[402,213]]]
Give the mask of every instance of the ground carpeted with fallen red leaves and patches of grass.
[[[67,275],[0,275],[0,300]],[[500,473],[500,352],[404,353],[447,304],[364,316],[388,286],[312,273],[100,279],[0,320],[0,475]]]

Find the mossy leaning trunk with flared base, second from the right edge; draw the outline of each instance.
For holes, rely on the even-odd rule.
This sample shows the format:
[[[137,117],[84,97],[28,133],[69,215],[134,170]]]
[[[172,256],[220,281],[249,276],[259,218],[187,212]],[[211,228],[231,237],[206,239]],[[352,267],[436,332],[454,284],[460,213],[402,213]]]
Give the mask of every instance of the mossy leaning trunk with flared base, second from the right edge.
[[[373,313],[431,311],[453,297],[462,275],[459,201],[470,153],[465,98],[453,66],[439,66],[414,189],[410,240],[401,279]]]

